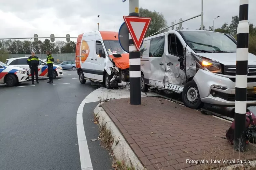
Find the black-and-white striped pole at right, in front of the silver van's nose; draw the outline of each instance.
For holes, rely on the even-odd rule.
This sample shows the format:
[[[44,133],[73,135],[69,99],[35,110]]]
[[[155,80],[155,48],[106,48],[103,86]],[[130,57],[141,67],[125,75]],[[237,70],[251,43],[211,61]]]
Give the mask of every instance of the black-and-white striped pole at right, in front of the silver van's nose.
[[[248,70],[248,2],[240,0],[239,24],[237,28],[237,64],[236,64],[236,96],[235,96],[235,129],[234,149],[245,151],[245,119]]]

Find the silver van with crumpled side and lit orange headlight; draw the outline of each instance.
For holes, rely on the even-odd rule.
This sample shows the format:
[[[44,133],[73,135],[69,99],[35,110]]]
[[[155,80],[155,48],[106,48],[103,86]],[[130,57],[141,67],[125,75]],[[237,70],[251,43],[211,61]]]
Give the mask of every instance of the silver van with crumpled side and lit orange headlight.
[[[143,41],[141,91],[182,94],[187,107],[234,107],[237,42],[228,33],[172,30]],[[247,107],[256,105],[256,56],[248,54]]]

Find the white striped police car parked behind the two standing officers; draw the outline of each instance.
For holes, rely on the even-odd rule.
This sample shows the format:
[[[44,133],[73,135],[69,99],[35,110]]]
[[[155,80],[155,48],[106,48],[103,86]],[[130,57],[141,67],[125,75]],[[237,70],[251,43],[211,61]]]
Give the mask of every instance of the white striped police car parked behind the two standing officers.
[[[21,68],[25,68],[29,70],[29,77],[31,78],[31,72],[29,65],[27,64],[28,56],[26,57],[19,57],[19,58],[9,58],[6,60],[5,64],[9,66],[17,66]],[[62,67],[58,65],[53,65],[53,79],[55,79],[57,76],[63,75]],[[43,78],[48,76],[48,66],[47,63],[44,62],[39,58],[39,66],[38,66],[38,77]]]

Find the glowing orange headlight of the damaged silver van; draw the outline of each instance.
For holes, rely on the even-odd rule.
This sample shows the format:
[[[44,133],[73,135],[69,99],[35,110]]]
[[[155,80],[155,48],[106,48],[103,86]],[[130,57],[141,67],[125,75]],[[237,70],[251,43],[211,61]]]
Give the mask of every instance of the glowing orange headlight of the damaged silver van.
[[[213,73],[221,73],[222,67],[220,63],[213,62],[210,60],[206,60],[204,58],[201,58],[200,56],[197,56],[193,54],[194,58],[196,59],[196,63],[201,69],[204,69],[206,71],[210,71]]]

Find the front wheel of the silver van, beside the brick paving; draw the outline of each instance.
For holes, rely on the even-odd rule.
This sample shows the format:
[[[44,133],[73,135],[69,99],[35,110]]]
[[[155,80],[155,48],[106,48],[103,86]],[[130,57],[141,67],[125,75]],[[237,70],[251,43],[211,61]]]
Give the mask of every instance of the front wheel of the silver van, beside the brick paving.
[[[182,101],[185,106],[192,109],[200,109],[203,107],[203,102],[201,102],[198,87],[195,81],[189,81],[184,86],[182,91]]]

